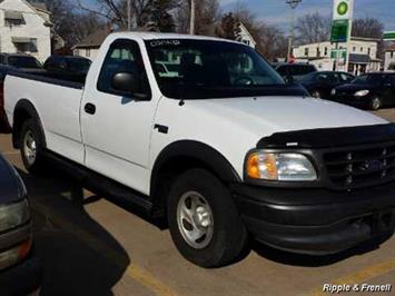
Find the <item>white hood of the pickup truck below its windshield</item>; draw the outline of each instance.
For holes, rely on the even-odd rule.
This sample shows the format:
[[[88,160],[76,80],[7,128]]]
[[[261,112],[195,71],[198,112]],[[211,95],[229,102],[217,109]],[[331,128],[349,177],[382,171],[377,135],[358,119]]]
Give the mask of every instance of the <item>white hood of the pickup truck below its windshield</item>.
[[[279,131],[383,125],[388,121],[345,105],[300,97],[261,97],[188,101],[229,125],[259,137]]]

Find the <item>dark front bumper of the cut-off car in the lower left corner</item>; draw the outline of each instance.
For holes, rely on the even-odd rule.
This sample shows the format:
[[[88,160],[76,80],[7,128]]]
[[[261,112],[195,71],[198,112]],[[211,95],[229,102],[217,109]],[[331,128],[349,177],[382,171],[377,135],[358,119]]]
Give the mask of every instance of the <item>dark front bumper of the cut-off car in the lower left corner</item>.
[[[42,268],[40,260],[30,255],[26,260],[0,272],[0,294],[28,295],[39,289]]]

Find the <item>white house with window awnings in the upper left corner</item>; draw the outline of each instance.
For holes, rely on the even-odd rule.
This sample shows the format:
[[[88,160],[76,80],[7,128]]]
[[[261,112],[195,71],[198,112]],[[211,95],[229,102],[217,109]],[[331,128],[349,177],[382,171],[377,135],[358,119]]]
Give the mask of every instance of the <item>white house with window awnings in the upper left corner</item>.
[[[50,12],[26,0],[0,0],[0,52],[45,61],[51,55]]]

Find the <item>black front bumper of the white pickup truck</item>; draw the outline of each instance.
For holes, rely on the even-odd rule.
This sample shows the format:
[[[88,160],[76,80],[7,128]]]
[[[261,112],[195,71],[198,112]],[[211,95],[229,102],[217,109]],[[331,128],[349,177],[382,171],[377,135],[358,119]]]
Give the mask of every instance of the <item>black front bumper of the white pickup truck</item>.
[[[256,240],[309,255],[352,248],[395,229],[395,184],[352,193],[233,187]]]

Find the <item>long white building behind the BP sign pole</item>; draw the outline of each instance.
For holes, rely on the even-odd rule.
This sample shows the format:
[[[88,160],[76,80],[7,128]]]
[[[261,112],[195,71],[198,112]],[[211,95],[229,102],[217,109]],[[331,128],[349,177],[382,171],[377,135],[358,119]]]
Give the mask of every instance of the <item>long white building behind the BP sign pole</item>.
[[[381,60],[377,59],[378,39],[352,37],[347,43],[329,41],[302,45],[293,49],[296,61],[315,65],[319,70],[333,70],[336,62],[337,70],[354,75],[379,71]]]

